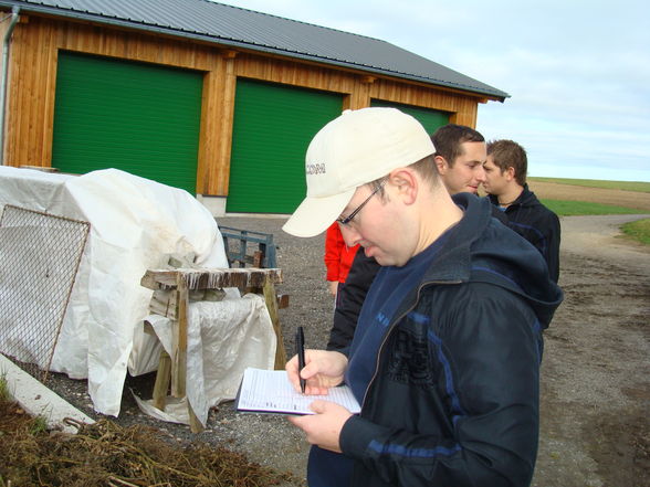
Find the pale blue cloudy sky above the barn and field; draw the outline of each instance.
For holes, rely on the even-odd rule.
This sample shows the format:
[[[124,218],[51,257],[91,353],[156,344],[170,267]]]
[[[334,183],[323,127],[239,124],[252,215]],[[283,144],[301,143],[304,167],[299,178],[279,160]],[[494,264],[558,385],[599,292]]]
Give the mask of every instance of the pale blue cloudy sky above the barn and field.
[[[643,0],[221,3],[380,39],[509,93],[479,105],[476,128],[523,145],[530,176],[650,181]]]

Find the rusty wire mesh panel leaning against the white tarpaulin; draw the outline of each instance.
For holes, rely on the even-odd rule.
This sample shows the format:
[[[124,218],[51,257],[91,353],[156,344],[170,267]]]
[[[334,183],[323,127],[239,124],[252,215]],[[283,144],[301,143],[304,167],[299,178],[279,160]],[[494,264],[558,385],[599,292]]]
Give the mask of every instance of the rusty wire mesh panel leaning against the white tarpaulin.
[[[0,352],[42,382],[90,226],[9,204],[0,218]]]

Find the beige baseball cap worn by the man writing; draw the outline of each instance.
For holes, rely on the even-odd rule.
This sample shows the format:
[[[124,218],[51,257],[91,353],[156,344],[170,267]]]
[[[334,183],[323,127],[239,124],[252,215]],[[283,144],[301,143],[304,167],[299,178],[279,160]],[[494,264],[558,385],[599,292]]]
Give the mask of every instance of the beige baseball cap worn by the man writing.
[[[434,151],[424,127],[397,108],[345,110],[312,139],[305,157],[307,195],[282,230],[318,235],[358,187]]]

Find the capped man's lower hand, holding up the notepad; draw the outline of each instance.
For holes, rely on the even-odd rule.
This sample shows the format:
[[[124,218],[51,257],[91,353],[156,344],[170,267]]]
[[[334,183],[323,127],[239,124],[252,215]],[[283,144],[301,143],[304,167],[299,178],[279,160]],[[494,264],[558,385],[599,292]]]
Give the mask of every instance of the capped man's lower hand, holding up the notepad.
[[[305,432],[307,442],[321,448],[340,453],[338,437],[345,422],[353,415],[348,410],[329,401],[314,401],[310,407],[316,414],[289,416],[289,421]]]

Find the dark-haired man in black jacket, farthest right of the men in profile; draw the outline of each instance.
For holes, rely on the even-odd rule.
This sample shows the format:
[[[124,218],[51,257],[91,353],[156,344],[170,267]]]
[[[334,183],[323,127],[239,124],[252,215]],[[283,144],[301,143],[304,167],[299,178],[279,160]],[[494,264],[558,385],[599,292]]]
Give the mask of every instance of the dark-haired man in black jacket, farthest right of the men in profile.
[[[551,278],[559,278],[559,219],[544,207],[526,183],[526,150],[512,140],[488,144],[483,187],[492,204],[507,216],[507,225],[544,256]]]

